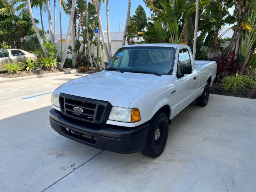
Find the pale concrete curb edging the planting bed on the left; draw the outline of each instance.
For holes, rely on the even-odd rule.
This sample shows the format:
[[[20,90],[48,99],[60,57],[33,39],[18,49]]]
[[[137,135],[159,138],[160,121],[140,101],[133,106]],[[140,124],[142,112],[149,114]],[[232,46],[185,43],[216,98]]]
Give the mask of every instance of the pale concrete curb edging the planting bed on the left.
[[[26,79],[34,79],[34,78],[42,78],[42,77],[50,77],[50,76],[57,76],[57,75],[64,75],[64,74],[74,74],[75,72],[76,72],[76,70],[70,70],[70,71],[63,71],[63,72],[58,72],[58,73],[48,73],[48,74],[41,74],[41,75],[30,75],[30,76],[25,76],[25,77],[0,78],[0,83],[19,81],[19,80],[26,80]]]

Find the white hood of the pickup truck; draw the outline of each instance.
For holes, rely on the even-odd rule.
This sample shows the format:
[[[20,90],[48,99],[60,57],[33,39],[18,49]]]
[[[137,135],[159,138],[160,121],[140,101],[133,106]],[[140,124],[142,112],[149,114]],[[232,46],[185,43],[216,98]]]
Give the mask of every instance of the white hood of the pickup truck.
[[[134,98],[164,78],[153,74],[102,71],[72,80],[54,93],[104,100],[112,106],[128,108]]]

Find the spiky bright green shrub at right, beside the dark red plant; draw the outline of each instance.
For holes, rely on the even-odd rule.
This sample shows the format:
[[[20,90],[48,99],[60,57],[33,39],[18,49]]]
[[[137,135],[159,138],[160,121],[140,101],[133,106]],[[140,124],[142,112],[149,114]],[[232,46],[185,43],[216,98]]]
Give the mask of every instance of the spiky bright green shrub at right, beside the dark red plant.
[[[222,79],[222,83],[224,84],[224,89],[231,89],[233,91],[245,89],[245,88],[254,88],[255,82],[251,76],[238,74],[236,75],[226,76]]]

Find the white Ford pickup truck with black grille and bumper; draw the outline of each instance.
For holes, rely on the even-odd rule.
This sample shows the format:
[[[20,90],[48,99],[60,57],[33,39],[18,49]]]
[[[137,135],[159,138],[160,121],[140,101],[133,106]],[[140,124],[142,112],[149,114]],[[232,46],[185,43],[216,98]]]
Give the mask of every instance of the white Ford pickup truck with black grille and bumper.
[[[186,45],[122,46],[103,71],[54,91],[50,124],[94,148],[157,157],[172,119],[195,99],[206,106],[216,68],[194,61]]]

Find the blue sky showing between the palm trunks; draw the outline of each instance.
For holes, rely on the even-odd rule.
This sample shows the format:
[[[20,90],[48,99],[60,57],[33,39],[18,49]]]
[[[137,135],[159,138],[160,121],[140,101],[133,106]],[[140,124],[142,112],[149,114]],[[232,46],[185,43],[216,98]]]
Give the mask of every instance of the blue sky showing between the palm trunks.
[[[89,0],[88,0],[89,1]],[[130,16],[134,15],[134,11],[141,5],[145,11],[147,17],[150,16],[149,9],[146,8],[142,0],[132,0],[131,4],[131,12]],[[51,17],[52,17],[52,24],[54,25],[54,1],[50,0],[50,8],[51,8]],[[118,32],[119,31],[119,22],[120,22],[120,29],[124,31],[124,25],[126,22],[127,16],[127,8],[128,8],[128,0],[109,0],[109,20],[110,20],[110,31],[111,32]],[[34,18],[36,18],[40,22],[40,12],[39,8],[33,8]],[[64,13],[62,10],[62,33],[67,33],[68,31],[68,22],[69,16]],[[101,4],[101,17],[102,17],[102,24],[103,30],[107,30],[107,22],[106,22],[106,3]],[[48,25],[48,16],[47,11],[43,12],[43,22],[44,22],[44,30],[49,30]],[[38,24],[38,27],[41,28],[41,23]],[[59,1],[56,0],[56,32],[60,32],[60,17],[59,17]]]

